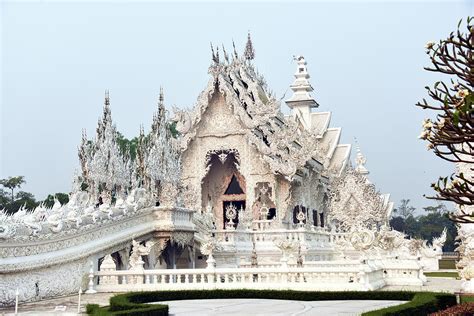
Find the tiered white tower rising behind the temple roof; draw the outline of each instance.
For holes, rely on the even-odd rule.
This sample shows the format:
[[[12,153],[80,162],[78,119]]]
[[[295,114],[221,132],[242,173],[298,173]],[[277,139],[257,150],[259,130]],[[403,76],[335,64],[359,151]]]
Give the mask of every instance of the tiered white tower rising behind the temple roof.
[[[319,104],[311,97],[314,90],[309,83],[308,69],[306,68],[306,60],[303,56],[295,56],[297,68],[295,73],[295,81],[290,86],[293,95],[286,100],[286,104],[291,109],[291,114],[302,120],[305,128],[309,128],[311,124],[311,109],[317,108]]]

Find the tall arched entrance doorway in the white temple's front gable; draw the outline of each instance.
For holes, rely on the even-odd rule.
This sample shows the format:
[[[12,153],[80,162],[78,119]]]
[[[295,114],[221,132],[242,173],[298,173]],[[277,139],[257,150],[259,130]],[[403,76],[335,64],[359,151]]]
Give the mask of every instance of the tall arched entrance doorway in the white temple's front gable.
[[[209,170],[201,182],[203,211],[212,212],[217,229],[235,229],[246,207],[246,183],[240,174],[235,149],[213,150],[206,155]]]

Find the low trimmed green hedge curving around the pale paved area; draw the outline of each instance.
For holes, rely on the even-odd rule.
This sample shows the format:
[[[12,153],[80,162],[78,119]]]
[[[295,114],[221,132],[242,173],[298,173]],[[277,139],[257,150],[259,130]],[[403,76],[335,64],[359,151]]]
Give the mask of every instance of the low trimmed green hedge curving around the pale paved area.
[[[189,291],[155,291],[131,292],[115,295],[110,298],[109,307],[87,305],[90,315],[168,315],[168,305],[145,304],[170,300],[222,299],[222,298],[260,298],[295,301],[328,301],[328,300],[393,300],[410,301],[399,306],[368,312],[363,315],[426,315],[430,312],[445,309],[456,304],[451,294],[417,293],[417,292],[306,292],[306,291],[272,291],[272,290],[189,290]]]

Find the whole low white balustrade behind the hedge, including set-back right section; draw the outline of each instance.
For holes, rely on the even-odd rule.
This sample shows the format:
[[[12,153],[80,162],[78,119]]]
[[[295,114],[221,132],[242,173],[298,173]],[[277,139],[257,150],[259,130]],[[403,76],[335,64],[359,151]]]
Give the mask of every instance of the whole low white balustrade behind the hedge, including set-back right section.
[[[308,262],[304,267],[102,269],[90,274],[99,292],[191,289],[291,289],[303,291],[369,291],[386,285],[423,285],[423,270],[413,260]]]

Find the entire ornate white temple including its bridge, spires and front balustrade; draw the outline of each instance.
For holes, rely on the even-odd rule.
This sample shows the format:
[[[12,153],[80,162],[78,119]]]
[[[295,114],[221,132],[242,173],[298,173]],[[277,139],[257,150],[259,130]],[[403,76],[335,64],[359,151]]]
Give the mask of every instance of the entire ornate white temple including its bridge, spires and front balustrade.
[[[190,111],[166,115],[132,157],[116,141],[106,94],[96,137],[83,133],[68,204],[0,213],[0,302],[77,292],[189,288],[373,290],[422,285],[432,246],[388,228],[393,203],[366,159],[340,144],[295,57],[291,109],[243,56],[212,52]],[[174,125],[173,125],[174,124]],[[174,137],[171,126],[178,135]],[[444,236],[445,238],[445,236]]]

